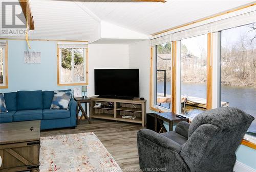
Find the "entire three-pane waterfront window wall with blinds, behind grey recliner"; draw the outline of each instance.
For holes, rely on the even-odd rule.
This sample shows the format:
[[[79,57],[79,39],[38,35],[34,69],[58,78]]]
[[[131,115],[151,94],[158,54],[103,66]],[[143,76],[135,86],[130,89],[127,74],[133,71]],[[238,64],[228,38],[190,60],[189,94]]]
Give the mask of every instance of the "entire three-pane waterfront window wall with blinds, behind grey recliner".
[[[150,42],[151,110],[165,112],[166,109],[157,106],[165,107],[193,120],[206,109],[236,107],[255,118],[244,137],[246,140],[242,140],[242,144],[254,148],[255,13],[168,32]],[[170,43],[160,44],[168,40],[173,41],[173,47]]]

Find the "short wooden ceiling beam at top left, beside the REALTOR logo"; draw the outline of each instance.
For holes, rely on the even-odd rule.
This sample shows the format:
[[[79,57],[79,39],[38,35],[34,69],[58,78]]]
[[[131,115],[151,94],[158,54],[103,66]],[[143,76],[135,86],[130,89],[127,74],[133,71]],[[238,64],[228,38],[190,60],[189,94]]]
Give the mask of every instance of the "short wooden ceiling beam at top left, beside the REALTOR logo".
[[[19,0],[19,4],[22,7],[23,14],[27,20],[28,26],[30,30],[34,30],[34,19],[32,16],[29,0]]]

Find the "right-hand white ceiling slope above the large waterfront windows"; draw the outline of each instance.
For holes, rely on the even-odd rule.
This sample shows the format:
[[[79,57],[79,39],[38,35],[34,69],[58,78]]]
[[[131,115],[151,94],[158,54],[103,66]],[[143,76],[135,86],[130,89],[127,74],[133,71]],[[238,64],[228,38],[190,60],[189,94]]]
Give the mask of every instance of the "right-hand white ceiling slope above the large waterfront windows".
[[[180,26],[253,1],[175,1],[166,3],[84,3],[101,20],[143,34]]]

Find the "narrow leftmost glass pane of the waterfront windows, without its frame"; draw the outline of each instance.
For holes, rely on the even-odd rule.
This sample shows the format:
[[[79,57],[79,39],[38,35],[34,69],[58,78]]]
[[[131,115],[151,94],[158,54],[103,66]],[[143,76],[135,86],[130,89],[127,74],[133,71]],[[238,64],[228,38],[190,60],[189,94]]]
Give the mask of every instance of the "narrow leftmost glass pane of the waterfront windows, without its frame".
[[[172,44],[155,46],[155,104],[170,109],[172,80]]]

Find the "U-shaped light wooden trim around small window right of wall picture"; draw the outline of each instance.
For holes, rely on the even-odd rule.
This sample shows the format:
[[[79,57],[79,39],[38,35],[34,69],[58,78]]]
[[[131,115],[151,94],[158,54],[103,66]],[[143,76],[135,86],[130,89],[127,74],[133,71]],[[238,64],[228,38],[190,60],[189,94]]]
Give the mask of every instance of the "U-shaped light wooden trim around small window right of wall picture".
[[[59,48],[57,44],[57,86],[79,86],[79,85],[88,85],[88,48],[84,48],[86,50],[85,56],[86,56],[86,82],[84,83],[60,83],[59,78]]]

